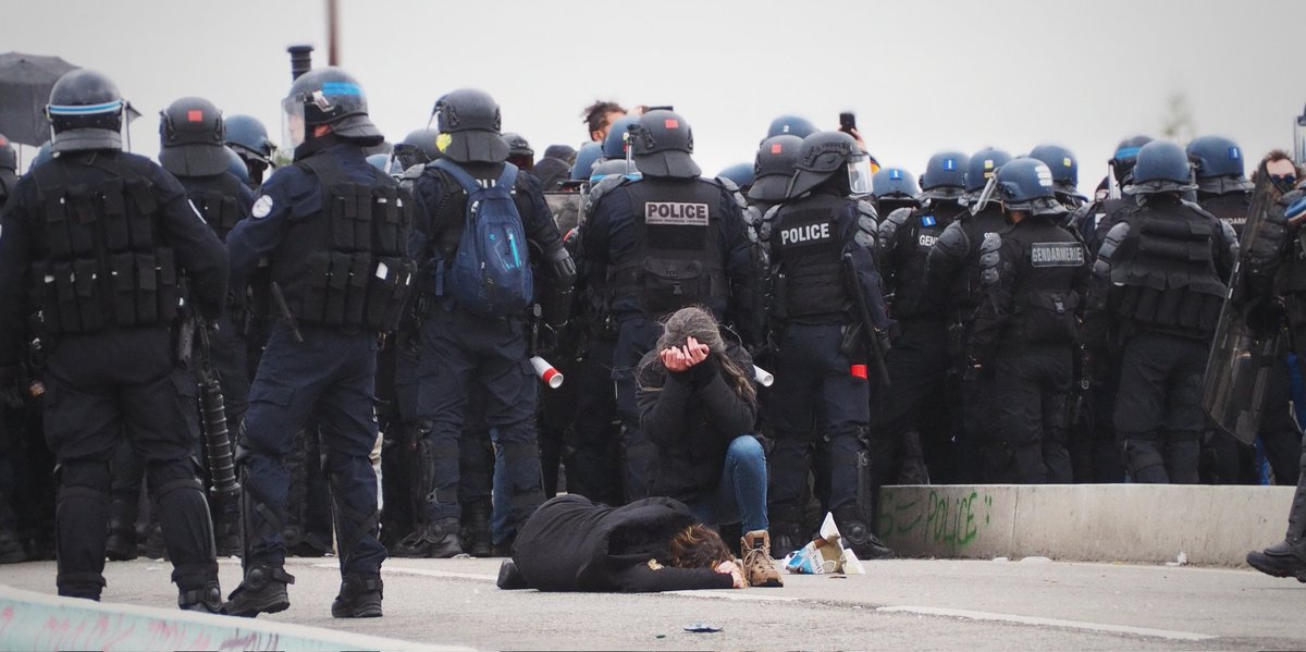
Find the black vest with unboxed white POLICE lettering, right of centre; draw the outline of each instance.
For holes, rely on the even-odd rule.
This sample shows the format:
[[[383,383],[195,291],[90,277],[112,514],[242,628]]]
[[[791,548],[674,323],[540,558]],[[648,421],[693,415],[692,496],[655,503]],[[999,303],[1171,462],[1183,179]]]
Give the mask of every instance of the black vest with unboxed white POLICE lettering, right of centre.
[[[852,297],[844,284],[844,234],[838,214],[849,200],[810,195],[776,216],[771,238],[782,281],[776,287],[781,320],[842,321]]]

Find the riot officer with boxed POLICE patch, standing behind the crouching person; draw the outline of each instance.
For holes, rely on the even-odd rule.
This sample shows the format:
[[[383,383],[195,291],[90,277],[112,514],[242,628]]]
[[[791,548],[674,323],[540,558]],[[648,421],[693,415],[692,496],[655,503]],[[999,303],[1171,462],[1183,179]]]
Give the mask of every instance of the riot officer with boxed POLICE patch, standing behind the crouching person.
[[[649,111],[631,137],[643,176],[614,176],[590,191],[577,244],[590,273],[603,274],[618,324],[613,380],[627,499],[648,493],[653,448],[639,429],[635,367],[661,334],[658,318],[703,304],[746,344],[759,342],[761,329],[760,280],[741,206],[720,182],[699,178],[690,124],[673,111]]]

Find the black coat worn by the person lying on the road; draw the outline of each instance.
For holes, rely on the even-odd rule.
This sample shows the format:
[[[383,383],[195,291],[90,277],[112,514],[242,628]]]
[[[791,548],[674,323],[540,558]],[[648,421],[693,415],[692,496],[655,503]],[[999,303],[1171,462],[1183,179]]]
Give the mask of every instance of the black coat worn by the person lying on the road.
[[[669,498],[607,507],[560,495],[539,506],[521,527],[512,559],[539,591],[731,588],[730,575],[670,566],[671,537],[693,523],[690,508]]]

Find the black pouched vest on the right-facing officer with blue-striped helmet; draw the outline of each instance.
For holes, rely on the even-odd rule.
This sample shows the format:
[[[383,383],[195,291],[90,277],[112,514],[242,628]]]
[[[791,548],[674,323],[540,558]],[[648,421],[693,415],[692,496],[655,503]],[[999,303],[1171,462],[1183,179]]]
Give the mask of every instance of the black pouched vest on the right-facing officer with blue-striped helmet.
[[[415,264],[407,257],[413,206],[380,171],[374,183],[351,180],[337,159],[319,154],[295,163],[323,187],[323,212],[290,222],[283,242],[307,244],[304,260],[277,256],[273,278],[303,273],[291,312],[307,324],[393,331]]]

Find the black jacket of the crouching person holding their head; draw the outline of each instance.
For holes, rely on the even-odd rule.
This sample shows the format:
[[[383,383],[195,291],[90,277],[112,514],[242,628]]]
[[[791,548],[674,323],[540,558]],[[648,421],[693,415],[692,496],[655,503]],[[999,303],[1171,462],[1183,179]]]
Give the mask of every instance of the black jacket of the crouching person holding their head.
[[[742,348],[727,349],[739,368],[752,371]],[[721,375],[716,354],[687,371],[667,372],[658,351],[640,362],[640,427],[657,447],[649,495],[693,503],[716,493],[726,448],[754,430],[757,406],[744,401]]]

